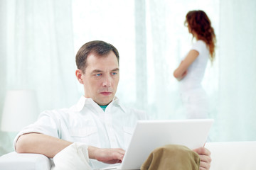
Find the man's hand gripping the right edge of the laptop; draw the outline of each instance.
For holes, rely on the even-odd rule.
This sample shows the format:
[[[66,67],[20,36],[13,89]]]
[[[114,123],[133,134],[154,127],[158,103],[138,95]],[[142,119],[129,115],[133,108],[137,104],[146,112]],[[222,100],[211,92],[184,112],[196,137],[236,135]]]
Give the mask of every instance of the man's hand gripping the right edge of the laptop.
[[[200,170],[210,169],[210,151],[205,147],[200,147],[198,149],[193,149],[194,152],[199,154],[200,157]]]

